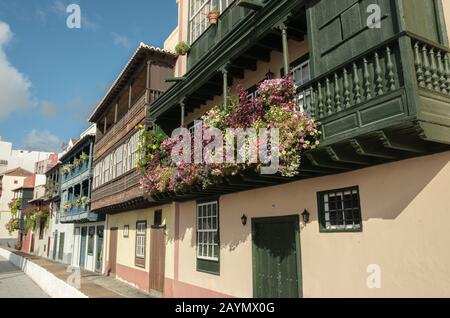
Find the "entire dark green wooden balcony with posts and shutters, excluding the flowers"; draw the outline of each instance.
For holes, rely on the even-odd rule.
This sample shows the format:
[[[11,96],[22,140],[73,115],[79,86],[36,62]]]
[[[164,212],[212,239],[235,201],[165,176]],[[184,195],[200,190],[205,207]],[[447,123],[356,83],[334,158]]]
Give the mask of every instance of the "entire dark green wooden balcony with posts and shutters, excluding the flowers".
[[[220,28],[207,30],[193,44],[184,80],[153,104],[151,119],[159,126],[178,127],[181,100],[189,113],[221,94],[217,71],[223,65],[240,64],[269,45],[283,52],[276,47],[281,42],[268,36],[282,21],[288,21],[292,35],[307,20],[307,28],[300,29],[308,35],[312,80],[298,87],[298,96],[303,109],[321,123],[321,144],[303,154],[295,178],[246,173],[207,190],[160,194],[152,200],[245,191],[449,150],[450,50],[438,2],[379,0],[381,28],[373,29],[365,16],[370,1],[286,0],[279,6],[269,1],[254,15],[236,18],[226,36]],[[295,11],[297,6],[305,13]],[[262,54],[259,60],[270,62],[270,56]]]

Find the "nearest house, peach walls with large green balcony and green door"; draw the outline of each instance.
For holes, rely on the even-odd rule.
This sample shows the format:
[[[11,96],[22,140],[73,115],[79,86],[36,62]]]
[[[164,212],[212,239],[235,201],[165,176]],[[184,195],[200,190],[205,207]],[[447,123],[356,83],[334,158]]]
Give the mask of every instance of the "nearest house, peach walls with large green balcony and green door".
[[[381,0],[370,20],[372,2],[178,1],[171,38],[178,32],[190,51],[148,122],[170,135],[238,85],[251,95],[289,70],[298,108],[321,123],[320,145],[302,154],[296,178],[243,174],[162,193],[136,226],[109,215],[110,267],[151,264],[122,275],[152,289],[164,271],[167,297],[449,295],[449,207],[439,198],[450,188],[450,11]],[[152,261],[156,219],[164,265]]]

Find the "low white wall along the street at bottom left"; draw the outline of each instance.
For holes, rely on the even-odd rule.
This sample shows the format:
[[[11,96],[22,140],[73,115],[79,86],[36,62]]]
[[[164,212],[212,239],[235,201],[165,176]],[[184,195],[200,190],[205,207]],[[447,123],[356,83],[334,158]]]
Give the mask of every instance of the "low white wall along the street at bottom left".
[[[89,298],[75,287],[62,281],[32,261],[0,247],[0,256],[19,267],[52,298]]]

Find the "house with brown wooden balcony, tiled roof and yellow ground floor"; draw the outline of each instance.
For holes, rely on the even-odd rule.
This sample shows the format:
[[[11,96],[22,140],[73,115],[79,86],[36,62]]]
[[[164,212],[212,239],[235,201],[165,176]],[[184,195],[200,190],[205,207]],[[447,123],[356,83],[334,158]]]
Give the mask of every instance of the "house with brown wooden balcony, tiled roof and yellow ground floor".
[[[163,221],[159,217],[154,223],[139,183],[139,127],[147,125],[148,106],[169,87],[165,80],[173,77],[175,61],[174,54],[141,43],[90,118],[98,127],[91,208],[107,215],[105,238],[110,237],[105,273],[147,291],[147,238],[152,231],[163,232]],[[164,248],[161,242],[159,250]]]

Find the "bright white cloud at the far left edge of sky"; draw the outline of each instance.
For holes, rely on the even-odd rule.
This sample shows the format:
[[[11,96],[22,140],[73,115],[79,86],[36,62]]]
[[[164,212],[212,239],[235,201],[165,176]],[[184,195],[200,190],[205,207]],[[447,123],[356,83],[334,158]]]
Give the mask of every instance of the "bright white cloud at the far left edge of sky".
[[[31,82],[8,60],[5,47],[13,38],[8,24],[0,21],[0,120],[32,105]]]

